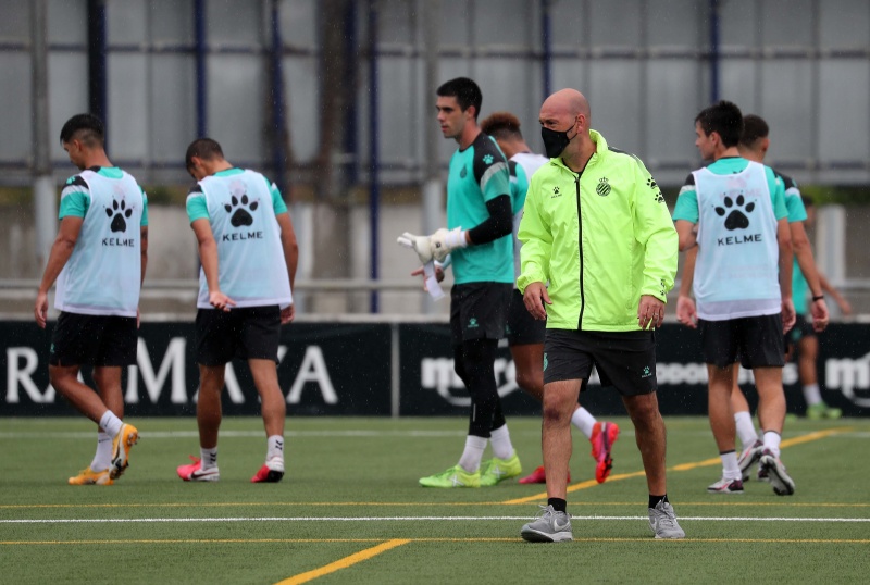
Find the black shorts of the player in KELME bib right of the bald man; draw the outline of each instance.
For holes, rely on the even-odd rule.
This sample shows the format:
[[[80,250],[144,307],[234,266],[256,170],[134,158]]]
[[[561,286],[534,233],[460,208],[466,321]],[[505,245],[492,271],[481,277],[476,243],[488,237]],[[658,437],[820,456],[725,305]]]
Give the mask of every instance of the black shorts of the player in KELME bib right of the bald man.
[[[725,368],[739,360],[746,370],[785,365],[782,315],[698,320],[704,361]]]

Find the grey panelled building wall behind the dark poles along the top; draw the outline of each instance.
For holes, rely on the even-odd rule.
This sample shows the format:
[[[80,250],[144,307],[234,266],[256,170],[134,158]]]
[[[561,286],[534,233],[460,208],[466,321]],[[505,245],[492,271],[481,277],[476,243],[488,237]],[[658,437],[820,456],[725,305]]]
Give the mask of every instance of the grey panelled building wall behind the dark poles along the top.
[[[88,108],[87,1],[47,0],[52,140]],[[204,0],[204,112],[197,110],[194,0],[105,2],[108,127],[112,154],[146,184],[187,181],[181,160],[198,116],[238,163],[273,165],[275,90],[270,18],[282,36],[288,165],[295,183],[318,161],[322,87],[332,52],[351,61],[356,100],[343,104],[338,148],[365,181],[369,98],[377,88],[381,181],[418,183],[425,166],[425,33],[437,36],[437,77],[467,75],[484,94],[483,114],[512,110],[533,146],[547,90],[576,87],[593,124],[641,155],[662,185],[697,164],[692,120],[714,97],[768,119],[771,162],[803,183],[870,183],[870,3],[866,0],[378,0],[377,78],[370,78],[363,0]],[[711,5],[719,5],[719,42]],[[430,5],[438,12],[430,15]],[[545,10],[545,7],[549,10]],[[30,132],[29,2],[0,0],[2,182],[24,184]],[[352,10],[351,10],[352,9]],[[544,34],[545,24],[549,30]],[[346,45],[325,46],[343,26]],[[332,55],[335,58],[336,55]],[[549,67],[546,67],[546,60]],[[719,70],[718,91],[712,71]],[[374,82],[374,83],[373,83]],[[716,96],[713,94],[717,94]],[[452,145],[439,145],[446,165]],[[52,157],[62,178],[59,145]]]

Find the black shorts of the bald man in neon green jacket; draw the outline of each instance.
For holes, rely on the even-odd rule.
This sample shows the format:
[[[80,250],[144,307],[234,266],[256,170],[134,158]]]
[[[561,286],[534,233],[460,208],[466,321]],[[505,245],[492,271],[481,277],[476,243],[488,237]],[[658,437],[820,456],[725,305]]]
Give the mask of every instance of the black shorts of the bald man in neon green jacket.
[[[656,391],[655,332],[547,329],[544,384],[582,379],[583,390],[593,365],[601,386],[613,386],[622,396]]]

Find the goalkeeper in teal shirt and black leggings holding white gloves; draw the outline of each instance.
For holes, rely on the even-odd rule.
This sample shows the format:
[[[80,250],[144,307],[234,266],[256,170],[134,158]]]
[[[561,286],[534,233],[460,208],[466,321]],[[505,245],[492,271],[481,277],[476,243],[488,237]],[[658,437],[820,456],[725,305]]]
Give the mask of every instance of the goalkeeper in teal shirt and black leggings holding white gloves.
[[[432,236],[406,233],[399,238],[399,244],[418,252],[424,265],[451,256],[453,368],[471,395],[462,456],[447,471],[422,477],[420,484],[425,487],[490,486],[522,472],[501,412],[494,370],[513,289],[510,174],[495,140],[477,125],[481,102],[481,90],[469,78],[452,79],[438,88],[438,124],[445,138],[459,144],[447,178],[448,228]],[[493,458],[482,463],[487,443],[492,443]]]

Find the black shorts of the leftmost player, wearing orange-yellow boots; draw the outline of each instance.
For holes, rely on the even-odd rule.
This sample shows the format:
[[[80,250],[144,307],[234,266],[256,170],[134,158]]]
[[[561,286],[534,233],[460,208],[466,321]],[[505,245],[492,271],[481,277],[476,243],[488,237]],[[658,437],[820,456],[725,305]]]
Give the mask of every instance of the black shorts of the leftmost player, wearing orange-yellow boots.
[[[51,334],[51,365],[135,365],[135,316],[61,312]]]

